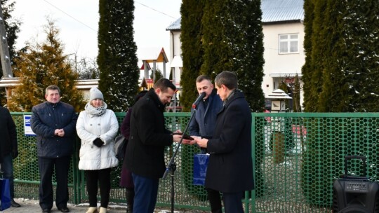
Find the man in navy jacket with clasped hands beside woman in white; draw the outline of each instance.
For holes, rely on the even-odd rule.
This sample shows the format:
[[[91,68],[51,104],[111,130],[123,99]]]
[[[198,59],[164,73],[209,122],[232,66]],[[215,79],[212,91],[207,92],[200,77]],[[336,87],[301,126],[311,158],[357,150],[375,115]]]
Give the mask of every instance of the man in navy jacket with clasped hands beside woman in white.
[[[60,89],[56,85],[46,88],[46,102],[32,108],[31,126],[37,135],[37,156],[41,184],[39,205],[42,212],[53,207],[52,177],[57,179],[55,205],[61,212],[69,212],[68,170],[76,137],[77,114],[74,107],[60,102]]]

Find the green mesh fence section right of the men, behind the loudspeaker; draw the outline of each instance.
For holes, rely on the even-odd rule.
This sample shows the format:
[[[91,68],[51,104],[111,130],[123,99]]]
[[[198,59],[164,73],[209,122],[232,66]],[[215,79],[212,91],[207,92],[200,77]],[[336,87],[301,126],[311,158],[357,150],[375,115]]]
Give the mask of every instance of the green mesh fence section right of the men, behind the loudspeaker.
[[[345,156],[378,180],[379,114],[253,114],[256,212],[332,212]],[[353,161],[349,174],[362,175]]]

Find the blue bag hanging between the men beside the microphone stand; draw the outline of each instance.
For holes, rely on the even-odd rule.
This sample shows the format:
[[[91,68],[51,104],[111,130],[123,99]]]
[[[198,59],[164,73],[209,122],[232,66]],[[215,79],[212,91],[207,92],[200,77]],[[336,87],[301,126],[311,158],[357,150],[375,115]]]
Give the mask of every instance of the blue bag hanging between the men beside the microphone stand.
[[[194,185],[204,186],[206,177],[206,168],[208,167],[208,154],[195,154],[194,155]]]

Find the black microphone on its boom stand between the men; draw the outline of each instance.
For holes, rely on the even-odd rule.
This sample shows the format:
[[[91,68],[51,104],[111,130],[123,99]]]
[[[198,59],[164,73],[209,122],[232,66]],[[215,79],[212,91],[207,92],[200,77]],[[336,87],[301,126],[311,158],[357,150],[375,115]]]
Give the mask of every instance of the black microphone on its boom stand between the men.
[[[187,126],[185,127],[185,130],[183,132],[183,135],[185,134],[185,132],[187,132],[188,128],[189,128],[189,123],[191,123],[192,121],[192,118],[194,118],[194,115],[196,114],[197,112],[197,105],[192,105],[192,109],[194,109],[192,111],[192,115],[191,115],[191,118],[189,118],[189,121],[187,123]],[[175,156],[178,154],[178,151],[179,151],[179,148],[180,148],[180,145],[182,144],[182,140],[183,140],[183,137],[180,139],[180,141],[178,142],[178,146],[176,146],[176,149],[175,149],[175,152],[173,153],[173,156],[171,157],[170,161],[168,162],[168,165],[166,167],[166,171],[164,172],[164,175],[162,177],[162,179],[165,179],[168,172],[171,172],[171,213],[174,212],[174,195],[175,195],[175,191],[174,191],[174,176],[175,176],[175,170],[176,170],[176,164],[175,164]]]

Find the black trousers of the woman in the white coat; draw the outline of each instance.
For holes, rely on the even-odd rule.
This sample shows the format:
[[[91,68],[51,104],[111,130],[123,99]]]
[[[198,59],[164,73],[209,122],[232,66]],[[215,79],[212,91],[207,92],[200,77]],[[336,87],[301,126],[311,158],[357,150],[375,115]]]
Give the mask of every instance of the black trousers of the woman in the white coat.
[[[98,206],[98,182],[100,186],[100,206],[107,208],[110,192],[111,168],[103,170],[86,170],[86,184],[90,207]]]

